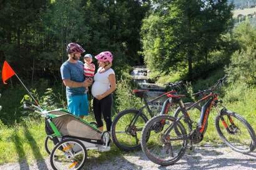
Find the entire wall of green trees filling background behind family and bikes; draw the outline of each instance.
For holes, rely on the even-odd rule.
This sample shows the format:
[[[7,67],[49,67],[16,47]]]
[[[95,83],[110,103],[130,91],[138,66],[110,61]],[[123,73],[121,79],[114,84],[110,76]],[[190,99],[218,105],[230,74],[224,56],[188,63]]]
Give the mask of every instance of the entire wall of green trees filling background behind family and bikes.
[[[110,50],[118,81],[145,64],[155,81],[194,82],[222,69],[230,81],[255,85],[255,29],[247,21],[234,29],[234,7],[228,0],[1,1],[0,64],[7,60],[29,88],[57,86],[62,102],[59,68],[69,42],[92,55]],[[25,92],[16,85],[11,78],[0,93],[19,93],[17,106]],[[17,109],[5,105],[0,118],[7,123],[12,119],[4,114]]]

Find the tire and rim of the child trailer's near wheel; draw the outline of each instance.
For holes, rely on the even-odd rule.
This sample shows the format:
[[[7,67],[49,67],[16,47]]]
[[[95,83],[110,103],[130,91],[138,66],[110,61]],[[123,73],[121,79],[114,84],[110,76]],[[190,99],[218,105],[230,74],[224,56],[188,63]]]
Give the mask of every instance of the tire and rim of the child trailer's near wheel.
[[[82,144],[81,141],[77,140],[77,139],[64,139],[62,140],[61,142],[59,142],[58,144],[56,144],[56,146],[54,147],[54,149],[52,150],[51,152],[51,156],[50,156],[50,162],[51,162],[51,166],[52,166],[52,169],[54,170],[62,170],[60,168],[56,168],[56,165],[54,164],[54,160],[58,158],[58,156],[55,155],[55,152],[56,151],[61,151],[62,153],[64,153],[64,147],[62,147],[61,145],[63,143],[77,143],[77,146],[81,146],[81,149],[82,151],[84,152],[84,160],[82,161],[82,164],[79,165],[77,168],[74,167],[74,165],[72,165],[74,167],[74,170],[80,170],[84,167],[84,164],[86,163],[86,159],[87,159],[87,150],[86,150],[86,147],[84,146],[84,144]],[[59,146],[61,146],[62,149],[59,148]],[[77,147],[76,146],[76,147]],[[68,147],[68,146],[67,146]],[[66,148],[67,148],[66,147]],[[72,149],[72,148],[69,148],[69,149]],[[77,148],[76,148],[77,149]],[[70,161],[71,158],[68,159],[68,161]],[[77,161],[77,159],[75,159]],[[60,163],[62,161],[61,160],[58,160],[57,162]],[[64,161],[66,163],[66,161]],[[75,162],[74,162],[75,163]],[[72,164],[72,163],[71,163]],[[66,167],[67,169],[68,167]],[[71,169],[71,166],[69,166],[69,169]]]

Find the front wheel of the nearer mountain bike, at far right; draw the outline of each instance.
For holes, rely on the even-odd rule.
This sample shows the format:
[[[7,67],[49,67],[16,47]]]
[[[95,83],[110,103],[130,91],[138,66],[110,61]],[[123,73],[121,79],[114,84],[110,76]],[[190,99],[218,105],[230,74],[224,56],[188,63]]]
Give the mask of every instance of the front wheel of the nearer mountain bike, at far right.
[[[237,113],[224,110],[216,117],[215,127],[220,138],[234,151],[250,153],[255,149],[252,126]]]

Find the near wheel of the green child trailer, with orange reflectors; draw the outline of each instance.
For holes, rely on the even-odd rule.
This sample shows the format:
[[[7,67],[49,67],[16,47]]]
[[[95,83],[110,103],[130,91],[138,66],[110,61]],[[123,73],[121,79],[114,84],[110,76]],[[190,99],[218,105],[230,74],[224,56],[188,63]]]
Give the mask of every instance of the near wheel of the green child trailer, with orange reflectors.
[[[77,139],[64,139],[56,144],[50,157],[54,170],[82,169],[86,159],[86,147]]]

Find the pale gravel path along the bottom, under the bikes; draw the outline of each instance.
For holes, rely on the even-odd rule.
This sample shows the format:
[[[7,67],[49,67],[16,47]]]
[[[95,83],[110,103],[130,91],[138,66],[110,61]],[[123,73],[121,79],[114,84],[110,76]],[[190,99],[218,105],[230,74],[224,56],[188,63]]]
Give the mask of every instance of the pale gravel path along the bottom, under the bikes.
[[[16,164],[4,164],[1,170],[52,170],[49,159],[45,161],[35,161],[31,165],[26,161]],[[189,149],[185,156],[173,166],[159,166],[150,162],[142,153],[124,153],[121,156],[112,158],[110,161],[97,163],[97,159],[89,157],[84,169],[256,169],[256,152],[250,155],[240,154],[225,146],[217,148],[205,144],[195,146],[193,151]]]

